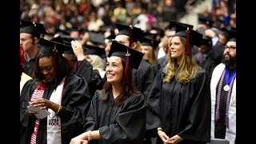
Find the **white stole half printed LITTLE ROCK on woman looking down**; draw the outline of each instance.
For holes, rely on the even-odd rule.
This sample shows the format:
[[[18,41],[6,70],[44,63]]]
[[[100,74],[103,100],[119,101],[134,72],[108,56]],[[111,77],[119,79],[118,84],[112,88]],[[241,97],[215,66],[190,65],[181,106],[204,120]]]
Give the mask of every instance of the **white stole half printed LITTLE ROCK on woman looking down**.
[[[62,105],[62,92],[65,85],[65,78],[57,86],[56,90],[50,95],[50,102]],[[50,115],[47,116],[47,144],[61,144],[61,118],[51,109],[48,109]]]

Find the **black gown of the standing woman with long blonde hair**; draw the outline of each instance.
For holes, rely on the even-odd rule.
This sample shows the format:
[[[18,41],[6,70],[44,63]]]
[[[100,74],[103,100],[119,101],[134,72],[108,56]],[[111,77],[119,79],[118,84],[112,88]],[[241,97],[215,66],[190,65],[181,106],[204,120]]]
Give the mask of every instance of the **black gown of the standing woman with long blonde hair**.
[[[162,82],[166,67],[159,70],[147,99],[146,130],[152,137],[162,127],[169,137],[178,134],[184,143],[210,141],[210,87],[206,71],[198,68],[195,78],[185,85],[175,79]],[[158,137],[158,143],[162,140]]]

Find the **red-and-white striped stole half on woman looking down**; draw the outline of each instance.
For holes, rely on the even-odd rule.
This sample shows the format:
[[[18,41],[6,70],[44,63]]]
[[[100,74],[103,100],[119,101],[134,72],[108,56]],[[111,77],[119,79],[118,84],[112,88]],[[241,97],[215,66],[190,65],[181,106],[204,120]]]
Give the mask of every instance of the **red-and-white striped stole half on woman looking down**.
[[[40,82],[39,85],[35,88],[30,102],[34,102],[37,99],[41,99],[44,91],[46,90],[46,82]],[[34,123],[34,132],[31,135],[30,144],[37,143],[37,134],[38,134],[38,126],[39,126],[39,119],[37,119]]]

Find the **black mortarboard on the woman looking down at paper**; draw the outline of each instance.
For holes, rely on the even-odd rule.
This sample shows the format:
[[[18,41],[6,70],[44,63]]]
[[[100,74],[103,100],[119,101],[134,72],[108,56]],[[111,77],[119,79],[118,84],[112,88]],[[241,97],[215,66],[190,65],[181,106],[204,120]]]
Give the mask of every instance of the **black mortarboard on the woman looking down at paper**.
[[[46,55],[54,55],[54,47],[56,47],[56,55],[60,56],[66,50],[72,49],[71,46],[63,45],[59,42],[48,41],[44,38],[40,38],[38,41],[38,48],[39,48],[39,55],[46,56]]]

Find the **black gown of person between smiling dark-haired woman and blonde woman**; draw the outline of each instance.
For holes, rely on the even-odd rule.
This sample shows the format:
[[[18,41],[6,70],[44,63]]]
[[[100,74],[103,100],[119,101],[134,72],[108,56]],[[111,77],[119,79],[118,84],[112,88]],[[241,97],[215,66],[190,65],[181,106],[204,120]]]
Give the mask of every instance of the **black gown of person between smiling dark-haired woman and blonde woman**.
[[[138,66],[138,70],[132,70],[133,86],[135,86],[147,97],[150,92],[150,87],[154,82],[154,76],[154,67],[151,66],[149,62],[142,59],[142,62]]]

